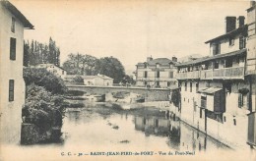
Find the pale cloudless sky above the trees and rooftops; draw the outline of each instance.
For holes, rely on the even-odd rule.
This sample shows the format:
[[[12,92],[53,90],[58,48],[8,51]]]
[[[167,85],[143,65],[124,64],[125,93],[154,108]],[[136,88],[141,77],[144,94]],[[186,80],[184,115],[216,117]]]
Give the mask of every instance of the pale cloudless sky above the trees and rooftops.
[[[249,1],[10,0],[32,23],[26,40],[70,53],[116,57],[127,73],[147,57],[209,55],[205,41],[224,34],[226,16],[245,16]],[[246,20],[245,20],[246,22]]]

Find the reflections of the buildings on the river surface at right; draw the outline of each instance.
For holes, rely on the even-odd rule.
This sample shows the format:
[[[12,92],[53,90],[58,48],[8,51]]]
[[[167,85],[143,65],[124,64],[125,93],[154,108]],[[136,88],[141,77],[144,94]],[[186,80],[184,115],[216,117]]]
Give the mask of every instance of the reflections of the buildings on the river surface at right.
[[[224,144],[203,134],[192,127],[173,119],[159,117],[135,117],[135,130],[151,134],[166,136],[166,144],[175,150],[202,151],[213,148],[225,148]]]

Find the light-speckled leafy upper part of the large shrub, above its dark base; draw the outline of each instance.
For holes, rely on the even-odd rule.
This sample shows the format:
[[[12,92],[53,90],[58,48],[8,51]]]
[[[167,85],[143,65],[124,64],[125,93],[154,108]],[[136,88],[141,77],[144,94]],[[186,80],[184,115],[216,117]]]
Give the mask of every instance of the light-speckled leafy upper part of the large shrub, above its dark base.
[[[26,94],[27,98],[23,108],[26,123],[34,124],[42,131],[62,126],[63,97],[53,95],[42,86],[33,83],[27,86]]]

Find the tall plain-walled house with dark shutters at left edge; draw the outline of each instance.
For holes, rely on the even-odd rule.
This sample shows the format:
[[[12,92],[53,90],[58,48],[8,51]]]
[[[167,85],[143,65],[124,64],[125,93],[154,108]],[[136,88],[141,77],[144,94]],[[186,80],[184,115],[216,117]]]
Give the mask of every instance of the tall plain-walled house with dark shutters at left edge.
[[[0,1],[0,137],[1,143],[19,143],[22,106],[24,29],[32,24],[9,1]]]

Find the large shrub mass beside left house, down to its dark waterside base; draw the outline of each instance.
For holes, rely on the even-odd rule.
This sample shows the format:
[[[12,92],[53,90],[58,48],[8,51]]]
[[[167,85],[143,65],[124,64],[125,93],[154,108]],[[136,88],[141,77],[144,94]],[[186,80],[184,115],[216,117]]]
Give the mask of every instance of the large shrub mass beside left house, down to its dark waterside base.
[[[54,95],[42,86],[33,83],[27,86],[26,91],[27,98],[23,108],[23,123],[35,127],[32,132],[28,131],[31,128],[22,130],[24,132],[22,143],[31,144],[40,141],[58,140],[65,109],[63,97]]]

